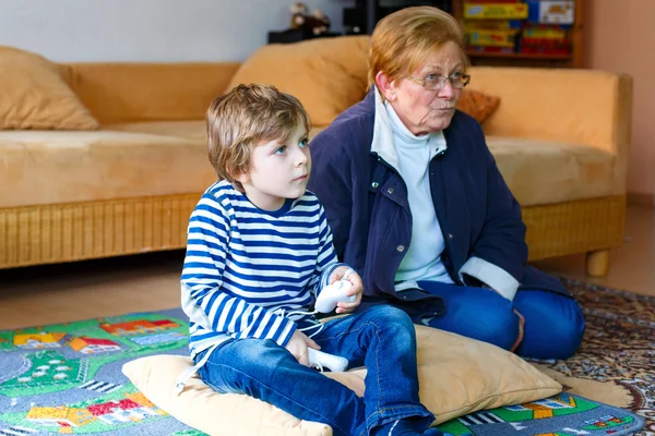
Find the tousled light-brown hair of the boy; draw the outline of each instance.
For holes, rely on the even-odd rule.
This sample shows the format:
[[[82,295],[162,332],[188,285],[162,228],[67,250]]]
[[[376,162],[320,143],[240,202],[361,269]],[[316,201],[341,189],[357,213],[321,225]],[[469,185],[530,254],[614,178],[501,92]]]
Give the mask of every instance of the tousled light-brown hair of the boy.
[[[300,101],[271,85],[239,85],[212,101],[206,112],[210,162],[222,180],[242,191],[235,175],[250,169],[252,149],[262,142],[287,142],[309,116]]]

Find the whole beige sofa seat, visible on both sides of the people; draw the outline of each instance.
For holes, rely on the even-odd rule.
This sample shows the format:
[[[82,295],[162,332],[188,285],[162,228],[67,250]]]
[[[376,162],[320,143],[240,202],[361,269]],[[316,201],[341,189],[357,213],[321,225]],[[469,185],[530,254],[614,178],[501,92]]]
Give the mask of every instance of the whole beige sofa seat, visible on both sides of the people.
[[[205,138],[204,121],[0,131],[0,185],[12,186],[0,207],[203,192],[216,180]],[[609,152],[495,136],[487,143],[523,206],[617,194]]]

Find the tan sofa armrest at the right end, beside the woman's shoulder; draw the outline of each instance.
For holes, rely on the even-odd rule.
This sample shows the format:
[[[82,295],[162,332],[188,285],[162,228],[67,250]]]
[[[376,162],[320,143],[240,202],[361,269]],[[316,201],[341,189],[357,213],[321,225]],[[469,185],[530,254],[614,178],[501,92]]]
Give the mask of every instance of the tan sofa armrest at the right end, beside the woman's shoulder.
[[[626,192],[632,128],[632,78],[596,70],[471,68],[471,88],[501,98],[487,135],[600,148],[615,155],[615,183]]]

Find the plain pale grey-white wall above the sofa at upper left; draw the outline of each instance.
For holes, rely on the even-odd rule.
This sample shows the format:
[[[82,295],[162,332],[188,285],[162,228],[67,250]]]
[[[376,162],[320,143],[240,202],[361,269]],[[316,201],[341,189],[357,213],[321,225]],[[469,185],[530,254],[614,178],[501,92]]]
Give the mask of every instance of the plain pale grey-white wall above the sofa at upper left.
[[[296,0],[0,0],[0,46],[57,62],[242,61]],[[341,32],[353,0],[303,0]]]

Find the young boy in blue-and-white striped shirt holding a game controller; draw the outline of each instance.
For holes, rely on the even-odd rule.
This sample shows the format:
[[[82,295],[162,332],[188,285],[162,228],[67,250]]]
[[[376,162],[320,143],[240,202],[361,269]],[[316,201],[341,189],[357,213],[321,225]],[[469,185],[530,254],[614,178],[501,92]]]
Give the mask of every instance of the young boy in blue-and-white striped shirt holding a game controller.
[[[353,312],[362,289],[337,263],[323,207],[306,191],[310,122],[300,102],[272,86],[240,85],[215,99],[206,119],[222,180],[189,222],[182,307],[196,365],[178,388],[199,372],[218,392],[250,395],[335,435],[440,435],[426,431],[434,416],[418,399],[415,330],[404,312],[379,305],[325,324],[311,312],[314,294],[344,275],[356,300],[337,313]],[[366,365],[365,397],[309,367],[308,348]]]

